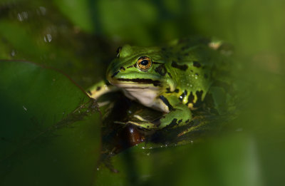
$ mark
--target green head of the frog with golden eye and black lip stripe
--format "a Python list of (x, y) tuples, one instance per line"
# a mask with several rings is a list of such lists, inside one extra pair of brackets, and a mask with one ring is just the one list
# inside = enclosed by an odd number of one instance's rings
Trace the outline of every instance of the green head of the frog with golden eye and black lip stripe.
[(158, 47), (120, 47), (107, 70), (108, 81), (120, 88), (172, 89), (176, 84), (170, 76)]

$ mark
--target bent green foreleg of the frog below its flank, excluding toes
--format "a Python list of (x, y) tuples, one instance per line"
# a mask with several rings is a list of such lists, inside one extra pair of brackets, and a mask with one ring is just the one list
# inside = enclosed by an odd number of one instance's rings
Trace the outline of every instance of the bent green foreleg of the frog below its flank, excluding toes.
[(158, 128), (174, 128), (187, 124), (192, 119), (192, 113), (187, 105), (182, 104), (174, 95), (160, 95), (160, 104), (165, 105), (169, 113), (160, 118)]

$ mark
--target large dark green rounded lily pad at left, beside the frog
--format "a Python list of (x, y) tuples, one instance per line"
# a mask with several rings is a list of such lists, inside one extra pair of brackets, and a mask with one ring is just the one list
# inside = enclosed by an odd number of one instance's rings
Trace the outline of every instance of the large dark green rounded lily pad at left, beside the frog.
[(90, 185), (97, 104), (51, 68), (0, 61), (0, 185)]

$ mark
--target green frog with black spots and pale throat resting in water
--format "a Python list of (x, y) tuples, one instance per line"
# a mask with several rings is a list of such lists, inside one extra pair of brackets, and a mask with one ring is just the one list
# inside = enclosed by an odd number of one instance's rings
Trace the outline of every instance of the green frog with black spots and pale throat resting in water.
[(87, 93), (97, 99), (120, 90), (130, 100), (162, 112), (157, 120), (138, 115), (139, 121), (127, 122), (138, 128), (163, 130), (187, 125), (193, 118), (192, 110), (199, 108), (210, 92), (219, 75), (217, 69), (223, 66), (222, 44), (200, 37), (176, 39), (163, 46), (127, 44), (118, 48), (108, 66), (107, 83), (101, 81)]

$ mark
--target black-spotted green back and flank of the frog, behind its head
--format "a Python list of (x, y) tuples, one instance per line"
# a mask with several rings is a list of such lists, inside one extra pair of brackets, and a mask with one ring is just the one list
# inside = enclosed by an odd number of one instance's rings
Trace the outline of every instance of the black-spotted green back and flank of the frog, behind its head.
[(175, 93), (189, 108), (197, 108), (202, 103), (213, 83), (214, 68), (222, 61), (221, 53), (211, 44), (205, 38), (186, 38), (164, 49), (167, 70), (177, 82)]

